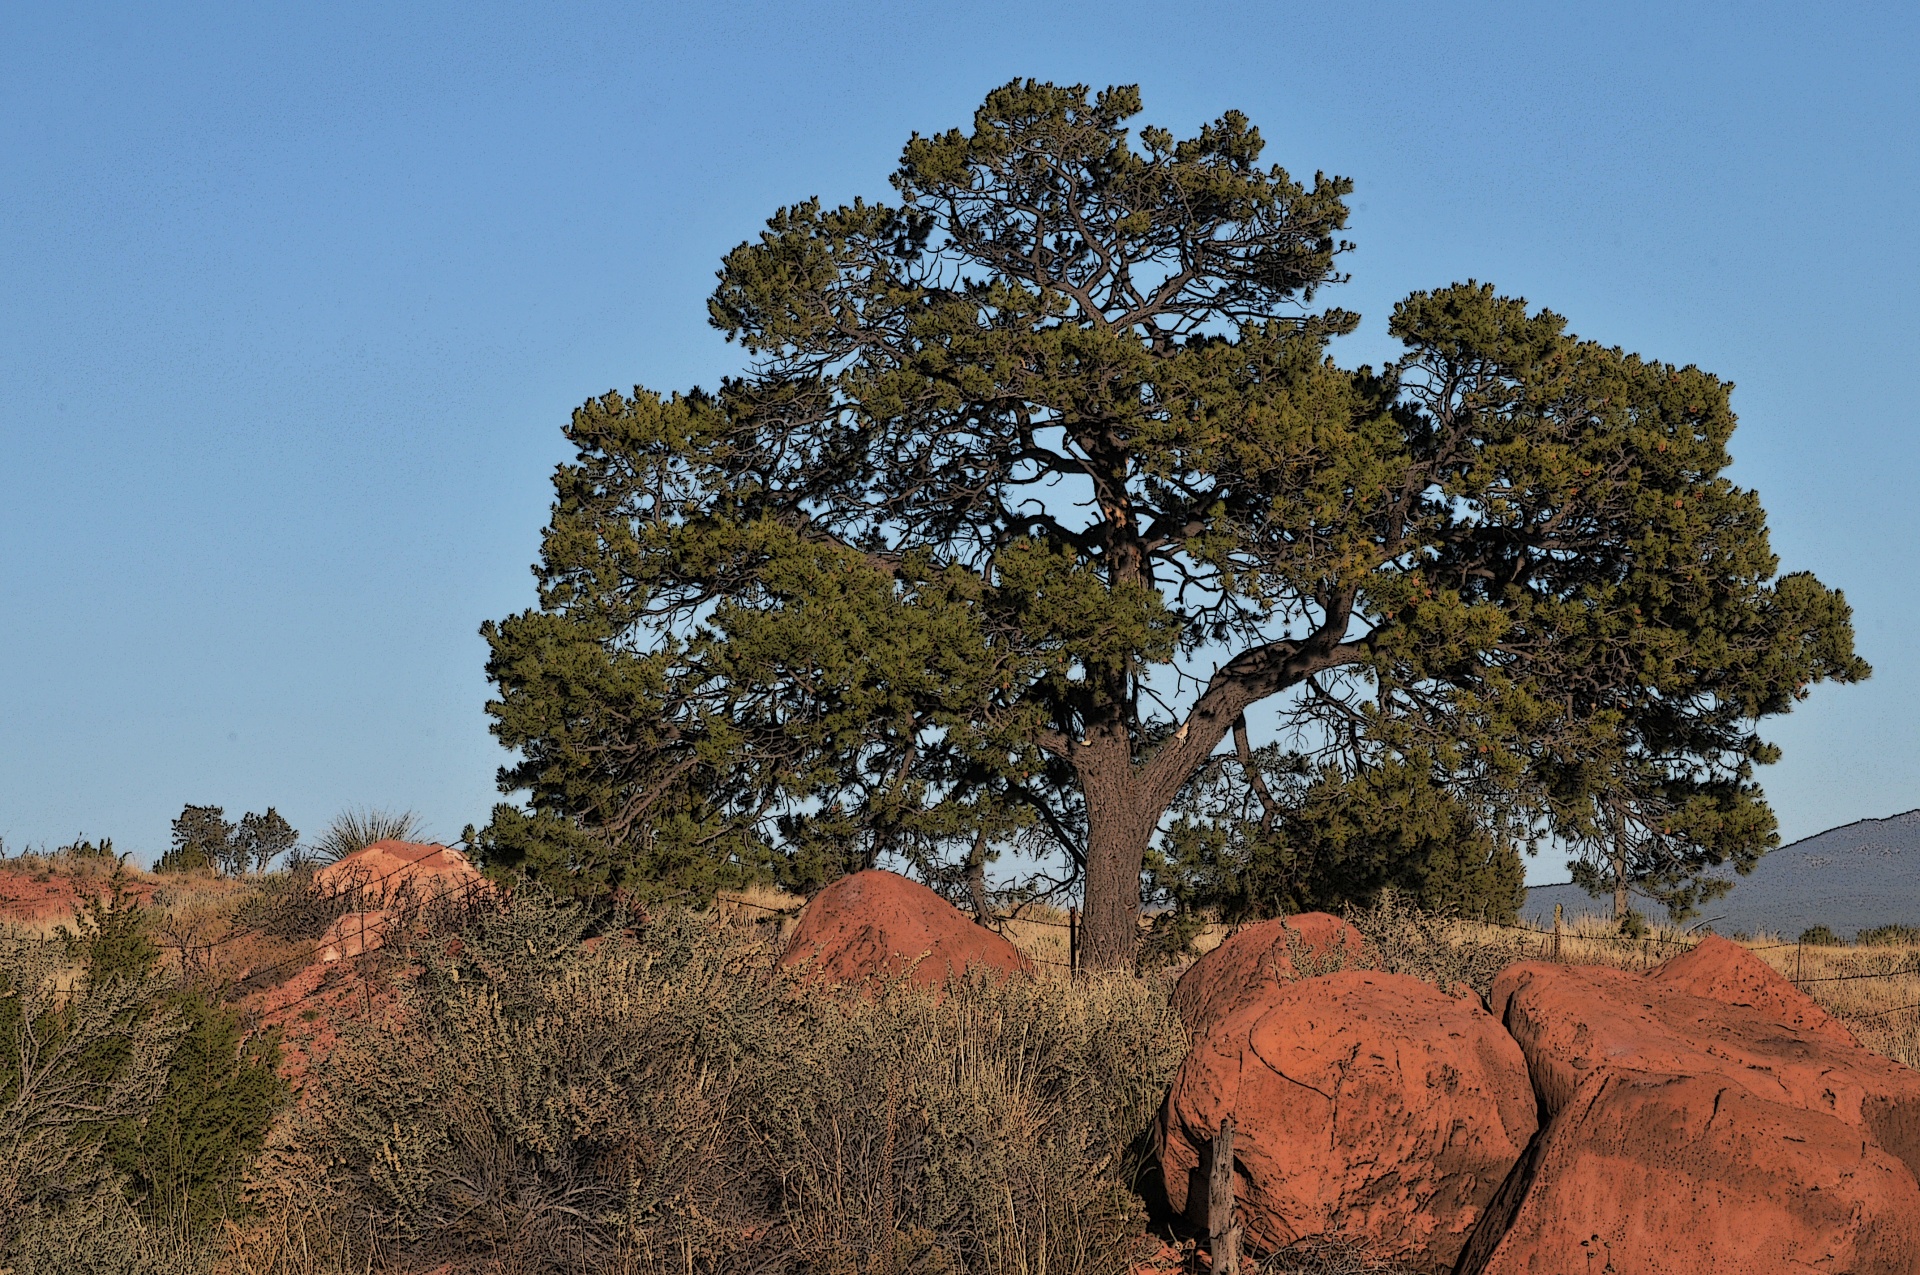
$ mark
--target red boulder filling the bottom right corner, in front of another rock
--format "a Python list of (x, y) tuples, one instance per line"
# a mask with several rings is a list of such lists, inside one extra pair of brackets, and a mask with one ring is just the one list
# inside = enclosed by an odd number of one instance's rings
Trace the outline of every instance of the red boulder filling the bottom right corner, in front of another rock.
[(1920, 1187), (1899, 1160), (1711, 1075), (1594, 1075), (1490, 1214), (1467, 1275), (1920, 1271)]

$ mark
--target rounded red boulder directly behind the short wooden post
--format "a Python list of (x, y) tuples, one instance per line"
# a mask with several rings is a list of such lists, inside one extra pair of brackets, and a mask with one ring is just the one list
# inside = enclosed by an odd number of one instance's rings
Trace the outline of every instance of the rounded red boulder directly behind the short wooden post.
[(1526, 1062), (1476, 1000), (1371, 970), (1269, 985), (1194, 1043), (1162, 1110), (1175, 1210), (1229, 1114), (1254, 1248), (1338, 1235), (1434, 1271), (1536, 1127)]

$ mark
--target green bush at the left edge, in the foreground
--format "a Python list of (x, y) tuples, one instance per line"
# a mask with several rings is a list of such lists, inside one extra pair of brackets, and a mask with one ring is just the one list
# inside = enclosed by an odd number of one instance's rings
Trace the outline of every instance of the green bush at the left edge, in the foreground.
[(156, 1269), (167, 1244), (142, 1227), (205, 1235), (232, 1215), (284, 1102), (276, 1037), (163, 977), (150, 929), (119, 864), (54, 945), (79, 968), (77, 995), (58, 995), (48, 945), (0, 945), (0, 1156), (13, 1166), (0, 1215), (21, 1219), (21, 1269), (60, 1269), (35, 1263), (63, 1252), (83, 1212), (115, 1215), (102, 1200), (117, 1192), (140, 1217), (125, 1244), (98, 1246), (100, 1269)]

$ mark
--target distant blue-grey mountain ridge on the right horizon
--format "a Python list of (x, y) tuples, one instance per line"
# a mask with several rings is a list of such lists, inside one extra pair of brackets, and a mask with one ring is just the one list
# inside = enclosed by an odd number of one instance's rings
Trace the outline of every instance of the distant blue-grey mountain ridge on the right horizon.
[[(1920, 926), (1920, 810), (1884, 820), (1859, 820), (1764, 854), (1751, 876), (1718, 876), (1734, 889), (1707, 904), (1695, 922), (1718, 933), (1778, 933), (1797, 937), (1828, 926), (1843, 939), (1874, 926)], [(1578, 885), (1534, 885), (1521, 916), (1553, 924), (1553, 904), (1567, 916), (1607, 916), (1613, 899), (1594, 899)], [(1647, 920), (1667, 910), (1636, 901)]]

